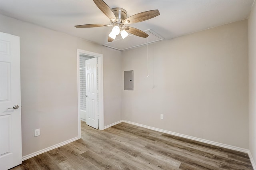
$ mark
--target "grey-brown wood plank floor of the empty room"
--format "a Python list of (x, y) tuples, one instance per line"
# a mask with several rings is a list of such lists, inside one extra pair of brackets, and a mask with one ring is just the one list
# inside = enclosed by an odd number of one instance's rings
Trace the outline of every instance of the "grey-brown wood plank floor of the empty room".
[(12, 170), (252, 170), (248, 154), (120, 123), (22, 162)]

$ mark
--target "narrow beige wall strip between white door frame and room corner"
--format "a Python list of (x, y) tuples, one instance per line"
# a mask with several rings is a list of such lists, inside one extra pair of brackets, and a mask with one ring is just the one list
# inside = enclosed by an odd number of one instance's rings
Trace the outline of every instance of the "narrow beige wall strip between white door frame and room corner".
[(120, 83), (122, 81), (122, 57), (121, 51), (109, 47), (102, 46), (102, 53), (104, 53), (104, 126), (107, 126), (122, 120), (122, 85)]

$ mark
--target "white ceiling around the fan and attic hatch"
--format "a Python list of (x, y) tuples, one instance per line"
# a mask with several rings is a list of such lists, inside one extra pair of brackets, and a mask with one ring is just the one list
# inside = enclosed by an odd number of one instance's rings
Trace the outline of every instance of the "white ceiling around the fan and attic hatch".
[[(254, 0), (104, 0), (127, 11), (127, 17), (158, 9), (160, 15), (130, 24), (171, 39), (248, 18)], [(75, 28), (81, 24), (110, 24), (92, 0), (0, 0), (3, 15), (64, 32), (98, 44), (107, 43), (112, 27)]]

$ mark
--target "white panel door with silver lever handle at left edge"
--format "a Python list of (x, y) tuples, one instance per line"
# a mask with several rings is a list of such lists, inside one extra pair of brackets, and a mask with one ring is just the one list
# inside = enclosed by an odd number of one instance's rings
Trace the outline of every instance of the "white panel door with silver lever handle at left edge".
[(0, 33), (0, 169), (22, 163), (20, 38)]

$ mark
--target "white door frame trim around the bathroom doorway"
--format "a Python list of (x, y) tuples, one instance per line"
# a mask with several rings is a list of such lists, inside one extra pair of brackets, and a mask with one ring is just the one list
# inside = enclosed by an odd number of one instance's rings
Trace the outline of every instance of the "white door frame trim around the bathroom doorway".
[(79, 64), (80, 55), (89, 55), (92, 57), (98, 57), (98, 121), (99, 130), (104, 128), (104, 103), (103, 103), (103, 55), (99, 53), (94, 53), (90, 51), (85, 51), (82, 49), (77, 49), (77, 94), (78, 94), (78, 137), (81, 138), (81, 117), (80, 117), (80, 74), (79, 74)]

